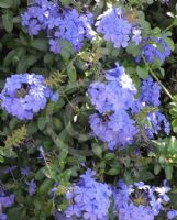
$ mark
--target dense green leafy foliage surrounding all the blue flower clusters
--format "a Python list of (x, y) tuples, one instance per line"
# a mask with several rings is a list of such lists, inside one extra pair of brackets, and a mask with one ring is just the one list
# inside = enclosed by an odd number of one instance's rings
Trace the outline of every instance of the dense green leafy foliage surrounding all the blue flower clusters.
[[(56, 54), (49, 50), (48, 33), (42, 31), (37, 35), (30, 35), (27, 29), (22, 25), (21, 14), (33, 4), (34, 1), (30, 0), (29, 2), (0, 0), (0, 88), (2, 90), (5, 79), (14, 74), (34, 73), (43, 75), (45, 85), (58, 92), (59, 98), (56, 102), (48, 101), (45, 109), (36, 113), (33, 120), (19, 120), (4, 108), (0, 109), (0, 185), (2, 188), (0, 193), (2, 190), (7, 195), (14, 194), (13, 206), (11, 208), (2, 206), (2, 210), (0, 204), (0, 213), (5, 212), (10, 220), (54, 219), (56, 211), (57, 215), (63, 215), (69, 206), (65, 197), (68, 189), (78, 182), (86, 169), (90, 168), (96, 170), (98, 182), (107, 183), (112, 187), (119, 179), (124, 179), (126, 184), (145, 182), (153, 186), (161, 186), (163, 180), (167, 179), (172, 188), (168, 194), (172, 202), (156, 217), (166, 219), (166, 210), (177, 208), (177, 7), (175, 0), (166, 3), (161, 0), (60, 0), (58, 8), (62, 11), (77, 9), (79, 14), (87, 14), (87, 12), (93, 14), (91, 24), (93, 37), (91, 40), (85, 37), (82, 48), (77, 52), (73, 50), (70, 42), (62, 40), (62, 50)], [(131, 42), (131, 36), (125, 46), (114, 47), (115, 44), (106, 41), (103, 33), (97, 30), (95, 23), (100, 14), (112, 7), (122, 7), (123, 19), (132, 25), (135, 23), (135, 28), (141, 30), (142, 38), (150, 37), (146, 38), (147, 43), (155, 44), (155, 48), (157, 47), (164, 57), (163, 45), (153, 42), (154, 38), (163, 38), (170, 50), (170, 56), (166, 56), (162, 62), (157, 55), (153, 62), (148, 62), (145, 54), (142, 55), (142, 43)], [(146, 41), (143, 42), (144, 44)], [(139, 55), (141, 61), (136, 62)], [(104, 79), (106, 70), (115, 68), (115, 63), (124, 67), (129, 79), (132, 79), (135, 85), (136, 98), (141, 96), (142, 81), (148, 76), (161, 86), (162, 96), (161, 105), (148, 103), (146, 108), (134, 114), (130, 113), (130, 108), (126, 109), (141, 132), (132, 143), (120, 147), (121, 144), (118, 142), (115, 150), (112, 151), (107, 141), (101, 141), (99, 135), (92, 135), (89, 117), (98, 112), (99, 108), (96, 109), (97, 105), (90, 101), (91, 95), (88, 88), (93, 81), (101, 81), (107, 88), (109, 80)], [(111, 82), (110, 87), (112, 87)], [(155, 90), (154, 87), (152, 88)], [(120, 87), (115, 90), (115, 95), (119, 89)], [(152, 96), (157, 95), (152, 92)], [(2, 97), (0, 99), (2, 103)], [(123, 99), (125, 97), (122, 96)], [(157, 109), (169, 121), (172, 130), (167, 135), (161, 124), (162, 130), (159, 129), (161, 131), (150, 139), (144, 130), (145, 127), (153, 125), (146, 117)], [(101, 120), (107, 121), (107, 117), (111, 113), (104, 112)], [(104, 135), (107, 138), (108, 134)], [(29, 173), (24, 175), (22, 168), (26, 167), (30, 167), (30, 170), (26, 169)], [(30, 184), (34, 189), (36, 188), (36, 191), (31, 195)], [(51, 193), (54, 188), (55, 195)], [(114, 218), (111, 206), (108, 218), (118, 219)], [(58, 216), (58, 219), (66, 218)]]

